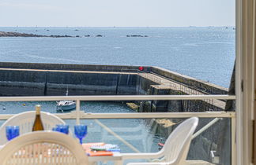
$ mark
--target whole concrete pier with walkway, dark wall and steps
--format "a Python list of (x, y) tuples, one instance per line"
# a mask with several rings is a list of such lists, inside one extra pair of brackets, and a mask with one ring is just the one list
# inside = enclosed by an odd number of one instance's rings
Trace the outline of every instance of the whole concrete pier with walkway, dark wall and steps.
[[(1, 96), (227, 94), (228, 89), (163, 68), (86, 64), (0, 63)], [(136, 103), (136, 102), (135, 102)], [(225, 101), (140, 101), (138, 112), (203, 112)]]

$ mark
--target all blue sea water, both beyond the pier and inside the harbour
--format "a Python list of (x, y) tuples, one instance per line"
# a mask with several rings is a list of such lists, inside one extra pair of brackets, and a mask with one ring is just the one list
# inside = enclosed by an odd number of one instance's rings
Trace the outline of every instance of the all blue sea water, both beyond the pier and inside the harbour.
[[(235, 62), (235, 27), (0, 27), (0, 31), (77, 36), (1, 37), (2, 62), (157, 66), (226, 88)], [(33, 110), (37, 104), (43, 111), (56, 112), (54, 101), (21, 101), (0, 102), (0, 114)], [(134, 113), (120, 102), (85, 101), (81, 110)], [(120, 145), (122, 152), (136, 152), (99, 122), (140, 152), (158, 151), (157, 143), (164, 138), (164, 128), (152, 128), (147, 119), (88, 119), (81, 120), (88, 125), (84, 142), (105, 141)], [(73, 126), (75, 120), (66, 123)]]

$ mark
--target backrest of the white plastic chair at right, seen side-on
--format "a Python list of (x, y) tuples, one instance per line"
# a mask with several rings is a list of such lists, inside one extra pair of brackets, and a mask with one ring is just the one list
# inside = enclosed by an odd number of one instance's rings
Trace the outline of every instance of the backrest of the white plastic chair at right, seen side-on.
[(198, 117), (186, 119), (175, 128), (165, 141), (160, 152), (164, 152), (166, 162), (174, 164), (185, 164), (187, 152), (190, 148), (190, 141), (194, 130), (198, 126)]

